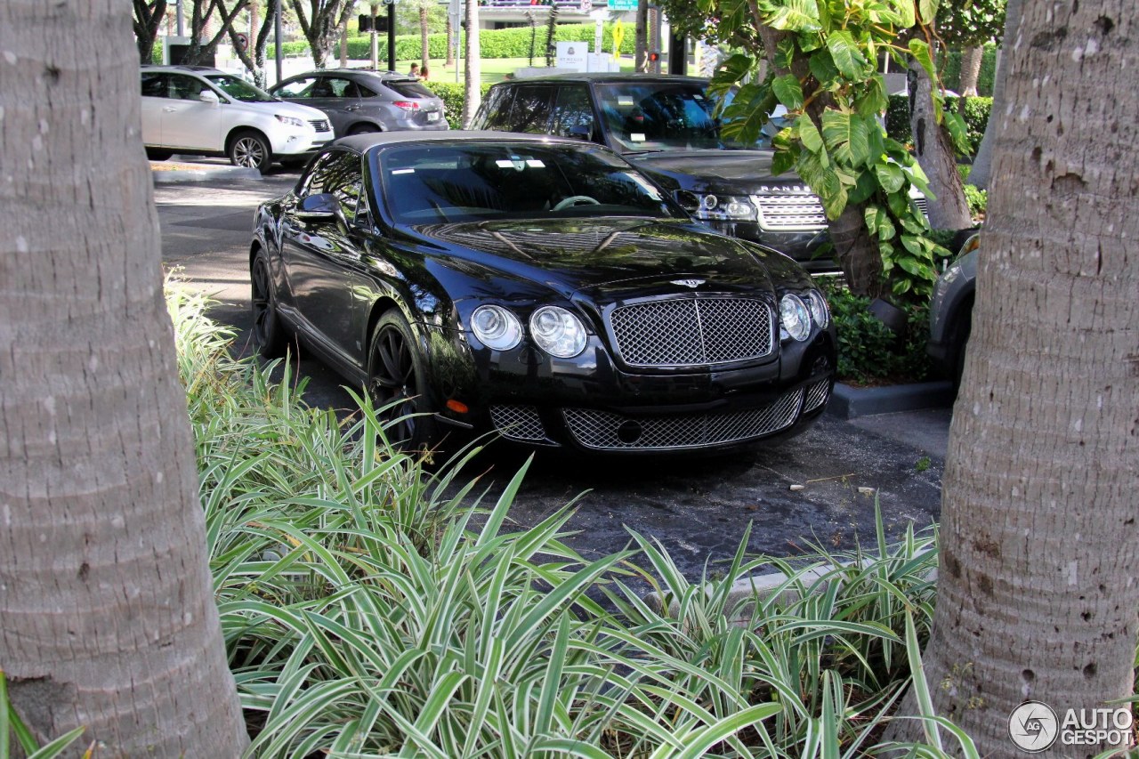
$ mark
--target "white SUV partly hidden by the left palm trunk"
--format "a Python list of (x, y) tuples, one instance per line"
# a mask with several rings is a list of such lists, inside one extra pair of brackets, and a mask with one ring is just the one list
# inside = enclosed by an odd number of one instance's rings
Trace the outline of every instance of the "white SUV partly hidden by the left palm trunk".
[(239, 76), (204, 66), (142, 67), (142, 142), (153, 161), (224, 155), (264, 171), (303, 163), (333, 139), (328, 117), (282, 103)]

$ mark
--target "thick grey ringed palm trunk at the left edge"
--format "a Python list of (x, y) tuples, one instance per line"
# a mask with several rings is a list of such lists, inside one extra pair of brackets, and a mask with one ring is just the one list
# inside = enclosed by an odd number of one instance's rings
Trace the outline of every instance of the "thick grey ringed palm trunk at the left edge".
[(229, 758), (128, 13), (0, 3), (0, 662), (41, 738)]

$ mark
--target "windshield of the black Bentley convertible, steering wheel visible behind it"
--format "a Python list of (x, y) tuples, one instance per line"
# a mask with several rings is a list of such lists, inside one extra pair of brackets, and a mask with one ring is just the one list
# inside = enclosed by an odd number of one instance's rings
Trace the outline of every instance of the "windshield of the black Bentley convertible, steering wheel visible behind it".
[(604, 148), (540, 142), (394, 147), (380, 154), (383, 196), (401, 223), (492, 219), (687, 219), (650, 180)]

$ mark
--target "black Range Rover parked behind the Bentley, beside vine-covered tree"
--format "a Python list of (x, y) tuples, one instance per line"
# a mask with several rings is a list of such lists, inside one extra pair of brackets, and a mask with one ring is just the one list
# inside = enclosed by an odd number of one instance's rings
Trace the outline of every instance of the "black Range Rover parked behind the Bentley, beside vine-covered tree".
[(600, 142), (670, 190), (691, 214), (735, 237), (790, 255), (811, 272), (836, 271), (816, 252), (827, 240), (819, 198), (794, 173), (771, 176), (770, 138), (726, 141), (707, 80), (653, 74), (559, 74), (491, 88), (472, 129)]

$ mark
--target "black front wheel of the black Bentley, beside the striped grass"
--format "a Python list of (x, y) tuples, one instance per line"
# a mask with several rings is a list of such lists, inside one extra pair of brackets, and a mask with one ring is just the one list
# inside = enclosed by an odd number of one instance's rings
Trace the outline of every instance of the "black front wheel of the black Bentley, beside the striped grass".
[(368, 349), (368, 394), (387, 439), (404, 450), (431, 448), (435, 424), (431, 416), (424, 359), (407, 319), (398, 310), (379, 318)]

